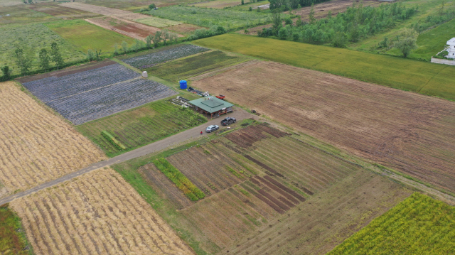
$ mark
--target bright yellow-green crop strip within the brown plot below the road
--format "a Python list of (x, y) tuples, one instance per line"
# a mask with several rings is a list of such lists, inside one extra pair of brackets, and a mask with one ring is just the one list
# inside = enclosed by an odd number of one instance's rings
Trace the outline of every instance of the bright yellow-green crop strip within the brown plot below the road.
[(188, 180), (188, 178), (186, 178), (180, 170), (172, 166), (171, 163), (169, 163), (165, 158), (158, 158), (154, 160), (154, 165), (156, 168), (161, 170), (161, 172), (164, 173), (169, 180), (175, 183), (177, 188), (183, 191), (183, 193), (191, 201), (197, 201), (205, 197), (205, 194), (200, 191), (196, 185), (191, 183), (191, 180)]

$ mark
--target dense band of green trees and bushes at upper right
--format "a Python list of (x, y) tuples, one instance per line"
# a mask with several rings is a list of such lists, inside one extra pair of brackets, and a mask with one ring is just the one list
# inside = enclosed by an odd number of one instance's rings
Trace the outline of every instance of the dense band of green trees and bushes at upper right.
[(264, 28), (258, 31), (258, 36), (276, 36), (282, 40), (294, 40), (303, 43), (323, 44), (331, 43), (335, 47), (346, 47), (348, 42), (357, 42), (361, 38), (374, 35), (385, 28), (395, 26), (397, 21), (410, 18), (418, 11), (418, 7), (405, 7), (401, 2), (394, 4), (383, 4), (378, 7), (353, 4), (346, 12), (327, 18), (316, 20), (314, 18), (314, 6), (309, 13), (309, 22), (301, 21), (301, 18), (294, 22), (291, 18), (284, 20), (282, 26), (281, 14), (274, 11), (272, 28)]

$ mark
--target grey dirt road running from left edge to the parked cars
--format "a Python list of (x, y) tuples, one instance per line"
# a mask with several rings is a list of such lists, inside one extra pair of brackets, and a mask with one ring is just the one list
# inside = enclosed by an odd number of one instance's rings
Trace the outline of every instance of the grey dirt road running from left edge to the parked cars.
[[(252, 115), (248, 112), (245, 112), (244, 110), (242, 109), (239, 109), (239, 108), (235, 108), (234, 112), (228, 114), (227, 116), (231, 116), (231, 117), (234, 117), (235, 119), (237, 119), (237, 121), (241, 121), (242, 119), (249, 119), (249, 118), (252, 118), (252, 117), (257, 117), (255, 115)], [(77, 170), (73, 173), (70, 173), (68, 175), (64, 175), (60, 178), (57, 178), (55, 180), (50, 180), (48, 181), (47, 183), (43, 183), (41, 185), (38, 185), (34, 188), (31, 188), (29, 190), (24, 190), (23, 192), (18, 192), (14, 195), (9, 195), (8, 197), (4, 197), (0, 200), (0, 205), (4, 205), (8, 202), (11, 202), (13, 200), (15, 200), (16, 198), (19, 198), (19, 197), (25, 197), (26, 195), (30, 195), (32, 194), (33, 192), (37, 192), (38, 190), (43, 190), (45, 188), (49, 188), (49, 187), (52, 187), (53, 185), (58, 185), (59, 183), (63, 183), (64, 181), (66, 180), (71, 180), (77, 176), (80, 176), (80, 175), (83, 175), (84, 173), (88, 173), (92, 170), (95, 170), (95, 169), (98, 169), (98, 168), (102, 168), (102, 167), (105, 167), (105, 166), (110, 166), (112, 164), (115, 164), (115, 163), (120, 163), (120, 162), (123, 162), (123, 161), (129, 161), (130, 159), (133, 159), (133, 158), (137, 158), (137, 157), (140, 157), (140, 156), (145, 156), (149, 153), (154, 153), (156, 151), (161, 151), (165, 148), (168, 148), (169, 146), (173, 146), (174, 144), (177, 144), (177, 143), (182, 143), (183, 141), (187, 141), (189, 139), (194, 139), (196, 137), (200, 137), (200, 131), (203, 131), (203, 135), (202, 136), (205, 136), (207, 133), (205, 133), (205, 127), (207, 126), (210, 126), (210, 125), (219, 125), (220, 124), (220, 121), (221, 119), (223, 119), (224, 117), (221, 116), (219, 118), (216, 118), (216, 119), (211, 119), (209, 120), (207, 123), (205, 124), (202, 124), (200, 126), (196, 126), (194, 127), (193, 129), (188, 129), (186, 131), (183, 131), (181, 133), (178, 133), (178, 134), (175, 134), (173, 136), (169, 136), (167, 137), (166, 139), (162, 139), (160, 141), (156, 141), (154, 143), (150, 143), (149, 145), (146, 145), (146, 146), (143, 146), (141, 148), (137, 148), (136, 150), (134, 151), (129, 151), (127, 153), (124, 153), (122, 155), (119, 155), (119, 156), (116, 156), (114, 158), (109, 158), (107, 159), (106, 161), (100, 161), (98, 163), (93, 163), (92, 165), (90, 166), (87, 166), (87, 168), (83, 168), (81, 170)]]

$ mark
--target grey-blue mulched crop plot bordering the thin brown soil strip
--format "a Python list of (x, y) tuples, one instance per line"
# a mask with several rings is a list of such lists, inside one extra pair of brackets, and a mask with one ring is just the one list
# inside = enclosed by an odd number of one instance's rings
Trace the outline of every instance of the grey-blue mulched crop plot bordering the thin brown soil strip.
[(51, 76), (25, 82), (23, 86), (41, 101), (48, 102), (137, 77), (139, 77), (137, 72), (123, 65), (114, 64), (62, 77)]

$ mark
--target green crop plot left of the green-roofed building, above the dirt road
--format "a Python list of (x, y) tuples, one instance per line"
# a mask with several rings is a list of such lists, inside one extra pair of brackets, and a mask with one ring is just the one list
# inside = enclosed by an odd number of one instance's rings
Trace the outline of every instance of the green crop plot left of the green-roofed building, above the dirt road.
[[(99, 145), (107, 156), (113, 157), (206, 121), (196, 112), (161, 100), (75, 126), (75, 129)], [(109, 141), (102, 135), (103, 131), (112, 134), (126, 149)]]

